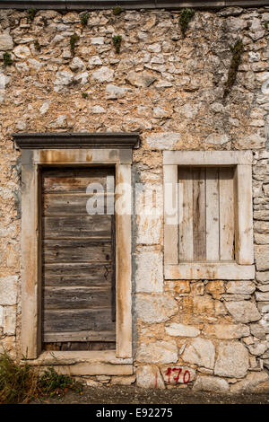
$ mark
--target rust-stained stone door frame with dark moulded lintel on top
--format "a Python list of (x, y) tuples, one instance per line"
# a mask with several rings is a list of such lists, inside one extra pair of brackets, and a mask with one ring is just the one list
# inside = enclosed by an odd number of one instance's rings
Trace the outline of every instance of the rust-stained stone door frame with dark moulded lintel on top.
[[(137, 134), (14, 134), (22, 148), (22, 331), (21, 356), (31, 365), (49, 365), (51, 352), (41, 351), (42, 166), (115, 166), (115, 185), (131, 185), (132, 148)], [(80, 140), (80, 141), (79, 141)], [(71, 146), (70, 146), (71, 145)], [(91, 147), (92, 146), (92, 147)], [(105, 146), (105, 148), (104, 148)], [(124, 197), (125, 192), (122, 197)], [(123, 198), (124, 199), (124, 198)], [(127, 200), (127, 197), (126, 197)], [(132, 221), (116, 215), (116, 350), (54, 351), (54, 365), (76, 361), (73, 374), (133, 374), (132, 358)], [(111, 365), (113, 364), (113, 365)], [(80, 368), (78, 367), (80, 366)], [(81, 367), (82, 366), (82, 367)], [(70, 371), (69, 371), (70, 372)]]

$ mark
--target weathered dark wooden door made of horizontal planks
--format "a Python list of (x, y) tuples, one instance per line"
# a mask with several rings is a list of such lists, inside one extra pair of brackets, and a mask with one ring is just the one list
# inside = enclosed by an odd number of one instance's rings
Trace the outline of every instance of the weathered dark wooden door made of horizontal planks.
[[(111, 178), (111, 168), (42, 171), (45, 350), (115, 348), (115, 218), (111, 206), (108, 209), (114, 195)], [(104, 189), (104, 208), (96, 215), (86, 208), (92, 198), (86, 191), (91, 183)]]

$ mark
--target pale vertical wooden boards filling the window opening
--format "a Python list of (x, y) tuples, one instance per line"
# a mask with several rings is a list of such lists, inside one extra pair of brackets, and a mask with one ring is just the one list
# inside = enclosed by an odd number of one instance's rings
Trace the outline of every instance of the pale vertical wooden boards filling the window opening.
[(233, 261), (234, 169), (178, 167), (179, 262)]

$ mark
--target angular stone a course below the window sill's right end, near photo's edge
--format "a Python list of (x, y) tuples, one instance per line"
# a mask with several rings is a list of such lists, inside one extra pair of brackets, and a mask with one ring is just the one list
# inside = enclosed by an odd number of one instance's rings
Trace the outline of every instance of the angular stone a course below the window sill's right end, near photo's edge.
[(236, 321), (247, 323), (258, 321), (261, 318), (261, 315), (256, 308), (256, 304), (253, 302), (226, 302), (225, 306)]

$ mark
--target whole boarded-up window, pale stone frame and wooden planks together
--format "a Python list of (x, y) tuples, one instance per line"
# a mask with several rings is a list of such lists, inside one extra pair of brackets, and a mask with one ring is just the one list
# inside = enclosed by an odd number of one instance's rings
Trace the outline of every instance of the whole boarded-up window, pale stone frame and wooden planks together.
[(163, 162), (165, 277), (253, 278), (252, 154), (169, 151)]

